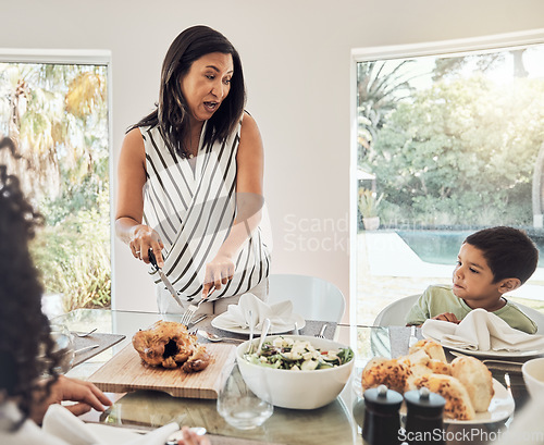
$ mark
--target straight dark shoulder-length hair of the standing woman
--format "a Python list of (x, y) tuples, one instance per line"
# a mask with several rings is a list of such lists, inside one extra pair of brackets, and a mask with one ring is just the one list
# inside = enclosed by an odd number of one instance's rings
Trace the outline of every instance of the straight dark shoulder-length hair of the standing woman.
[(208, 145), (225, 139), (242, 118), (246, 103), (242, 61), (225, 36), (203, 25), (187, 28), (174, 39), (162, 63), (159, 103), (153, 112), (128, 131), (140, 126), (158, 126), (166, 147), (182, 158), (187, 158), (188, 149), (183, 145), (183, 135), (189, 128), (190, 110), (182, 94), (181, 81), (193, 62), (211, 52), (231, 54), (234, 73), (228, 95), (208, 121), (203, 143)]

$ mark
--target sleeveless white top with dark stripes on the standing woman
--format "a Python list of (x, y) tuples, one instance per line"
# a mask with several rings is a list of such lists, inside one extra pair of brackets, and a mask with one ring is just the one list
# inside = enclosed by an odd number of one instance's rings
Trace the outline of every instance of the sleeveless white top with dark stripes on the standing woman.
[[(226, 140), (202, 146), (183, 159), (171, 152), (157, 127), (140, 128), (146, 148), (144, 224), (164, 244), (164, 273), (182, 299), (200, 299), (206, 264), (227, 237), (236, 215), (236, 153), (239, 125)], [(254, 231), (235, 261), (232, 281), (210, 300), (248, 292), (269, 274), (270, 255), (260, 227)], [(154, 270), (153, 280), (163, 286)], [(164, 286), (163, 286), (164, 287)]]

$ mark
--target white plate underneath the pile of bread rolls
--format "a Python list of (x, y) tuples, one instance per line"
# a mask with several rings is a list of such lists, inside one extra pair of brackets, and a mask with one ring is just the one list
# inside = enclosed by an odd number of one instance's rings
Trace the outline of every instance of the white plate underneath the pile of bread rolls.
[[(354, 375), (354, 391), (362, 398), (361, 373), (359, 370)], [(456, 420), (444, 417), (444, 423), (452, 424), (481, 424), (481, 423), (495, 423), (508, 419), (512, 412), (516, 404), (508, 390), (504, 387), (497, 380), (493, 379), (493, 390), (495, 395), (491, 399), (490, 408), (485, 412), (477, 412), (472, 420)], [(399, 413), (406, 416), (406, 404), (403, 401)]]

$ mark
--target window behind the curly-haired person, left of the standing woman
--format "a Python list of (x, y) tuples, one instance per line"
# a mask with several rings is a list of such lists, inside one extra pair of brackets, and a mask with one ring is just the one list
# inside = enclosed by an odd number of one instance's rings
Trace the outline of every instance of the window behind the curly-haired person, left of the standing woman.
[(0, 163), (46, 219), (33, 254), (64, 310), (111, 301), (108, 63), (0, 50), (0, 134), (18, 153), (1, 150)]

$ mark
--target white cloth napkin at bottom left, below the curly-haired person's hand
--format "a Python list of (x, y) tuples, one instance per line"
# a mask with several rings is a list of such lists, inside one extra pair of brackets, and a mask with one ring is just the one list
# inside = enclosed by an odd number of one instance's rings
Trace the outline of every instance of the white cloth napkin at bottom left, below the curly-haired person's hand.
[(51, 405), (44, 418), (42, 430), (71, 445), (164, 445), (170, 434), (180, 430), (169, 423), (147, 434), (111, 425), (85, 423), (61, 405)]

